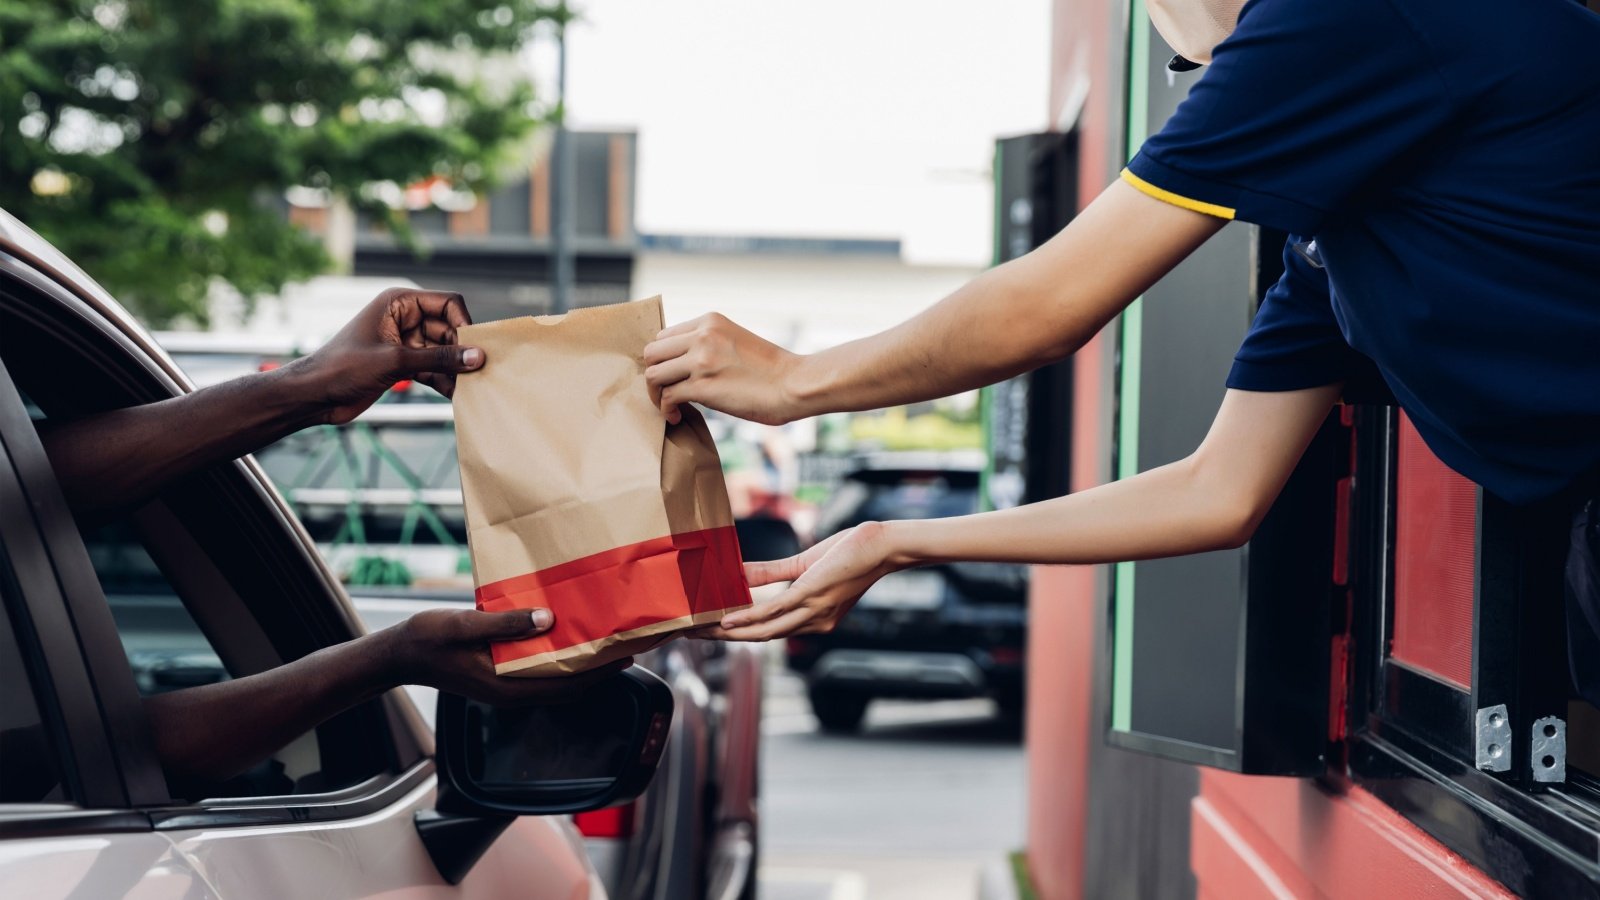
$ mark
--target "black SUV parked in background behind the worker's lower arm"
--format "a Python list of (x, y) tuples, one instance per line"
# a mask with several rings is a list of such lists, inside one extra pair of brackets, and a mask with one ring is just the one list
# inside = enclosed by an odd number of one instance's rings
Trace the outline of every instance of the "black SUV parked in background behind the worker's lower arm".
[[(978, 512), (982, 460), (880, 453), (845, 474), (824, 504), (818, 540), (885, 519)], [(896, 572), (874, 585), (829, 634), (790, 637), (827, 732), (854, 732), (878, 697), (992, 697), (1019, 714), (1027, 645), (1027, 569), (947, 564)]]

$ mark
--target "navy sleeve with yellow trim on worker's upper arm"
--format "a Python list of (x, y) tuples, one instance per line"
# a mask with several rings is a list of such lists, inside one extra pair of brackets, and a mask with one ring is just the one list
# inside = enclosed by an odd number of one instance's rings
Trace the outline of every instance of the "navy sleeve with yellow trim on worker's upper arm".
[(1400, 178), (1454, 114), (1392, 0), (1250, 0), (1123, 181), (1221, 218), (1315, 234)]

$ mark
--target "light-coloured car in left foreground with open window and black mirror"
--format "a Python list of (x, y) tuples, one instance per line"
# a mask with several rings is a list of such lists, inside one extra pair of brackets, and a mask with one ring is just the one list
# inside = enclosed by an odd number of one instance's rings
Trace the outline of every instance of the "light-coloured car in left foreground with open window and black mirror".
[(566, 814), (632, 799), (656, 769), (672, 693), (637, 666), (582, 705), (442, 698), (437, 732), (387, 692), (243, 777), (168, 783), (144, 695), (362, 629), (253, 460), (80, 530), (34, 420), (187, 389), (115, 301), (0, 211), (3, 894), (605, 897)]

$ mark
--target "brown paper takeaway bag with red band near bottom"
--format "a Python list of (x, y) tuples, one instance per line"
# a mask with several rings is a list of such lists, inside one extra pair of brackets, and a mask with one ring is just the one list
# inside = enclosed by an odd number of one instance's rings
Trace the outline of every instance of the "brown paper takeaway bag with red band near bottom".
[(491, 644), (499, 674), (579, 673), (750, 604), (710, 431), (645, 386), (661, 327), (658, 296), (458, 335), (488, 357), (454, 396), (477, 605), (555, 613)]

